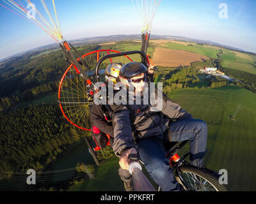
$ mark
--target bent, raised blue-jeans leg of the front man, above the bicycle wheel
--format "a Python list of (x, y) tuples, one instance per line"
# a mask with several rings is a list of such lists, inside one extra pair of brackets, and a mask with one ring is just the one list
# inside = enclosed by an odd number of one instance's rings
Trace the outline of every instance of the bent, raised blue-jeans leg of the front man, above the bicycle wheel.
[(203, 120), (184, 119), (170, 124), (170, 140), (182, 142), (190, 140), (190, 161), (195, 166), (204, 165), (207, 145), (207, 124)]

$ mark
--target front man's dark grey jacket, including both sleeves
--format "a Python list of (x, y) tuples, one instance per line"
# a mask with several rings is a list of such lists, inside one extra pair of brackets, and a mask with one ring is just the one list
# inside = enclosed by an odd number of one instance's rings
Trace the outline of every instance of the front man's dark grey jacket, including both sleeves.
[[(157, 93), (157, 89), (155, 90)], [(157, 97), (157, 94), (156, 94)], [(113, 109), (114, 142), (113, 150), (120, 157), (122, 151), (134, 147), (134, 140), (158, 136), (166, 131), (170, 119), (192, 119), (193, 117), (183, 110), (179, 104), (167, 98), (164, 94), (163, 106), (158, 110), (156, 105), (111, 105)], [(130, 95), (130, 99), (134, 96)], [(131, 118), (132, 117), (132, 118)], [(132, 133), (133, 132), (133, 133)]]

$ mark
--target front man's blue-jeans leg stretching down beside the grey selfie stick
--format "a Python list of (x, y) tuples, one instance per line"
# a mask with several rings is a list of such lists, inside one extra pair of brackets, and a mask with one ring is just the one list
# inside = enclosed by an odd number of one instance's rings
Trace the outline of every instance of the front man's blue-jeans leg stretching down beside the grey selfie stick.
[(161, 187), (161, 190), (179, 191), (179, 184), (173, 176), (165, 153), (162, 140), (145, 138), (138, 143), (138, 154), (150, 177)]

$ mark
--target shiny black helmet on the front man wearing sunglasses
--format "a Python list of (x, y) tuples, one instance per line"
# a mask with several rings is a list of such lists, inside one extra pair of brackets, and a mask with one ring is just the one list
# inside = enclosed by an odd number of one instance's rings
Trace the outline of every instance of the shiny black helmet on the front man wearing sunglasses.
[(129, 62), (121, 68), (119, 76), (122, 78), (132, 78), (146, 72), (147, 68), (145, 65), (139, 62)]

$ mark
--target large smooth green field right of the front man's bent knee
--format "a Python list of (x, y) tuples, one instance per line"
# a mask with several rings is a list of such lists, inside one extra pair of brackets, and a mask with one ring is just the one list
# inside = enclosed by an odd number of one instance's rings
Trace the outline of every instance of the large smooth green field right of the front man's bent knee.
[[(206, 166), (228, 171), (230, 191), (256, 190), (256, 95), (239, 87), (180, 89), (169, 97), (207, 122)], [(193, 102), (193, 103), (191, 103)], [(235, 120), (234, 115), (237, 108)]]

